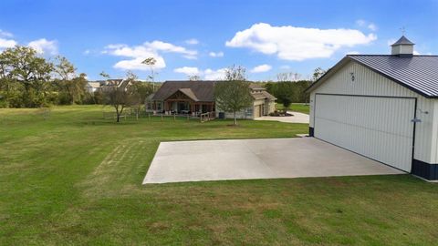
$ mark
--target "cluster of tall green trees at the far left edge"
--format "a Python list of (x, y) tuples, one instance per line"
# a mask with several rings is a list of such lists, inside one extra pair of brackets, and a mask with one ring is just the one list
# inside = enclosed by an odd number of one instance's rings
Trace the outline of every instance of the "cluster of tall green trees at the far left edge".
[(87, 76), (66, 57), (47, 60), (26, 46), (0, 53), (0, 108), (37, 108), (51, 104), (92, 103)]

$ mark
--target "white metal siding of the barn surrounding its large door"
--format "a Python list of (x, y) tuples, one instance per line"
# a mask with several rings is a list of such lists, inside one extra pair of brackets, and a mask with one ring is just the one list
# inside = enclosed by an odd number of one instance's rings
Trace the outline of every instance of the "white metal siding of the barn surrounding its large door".
[[(354, 76), (354, 81), (351, 80), (351, 73)], [(416, 123), (415, 126), (414, 159), (425, 163), (438, 162), (437, 100), (422, 97), (412, 90), (402, 87), (386, 77), (382, 77), (369, 68), (350, 61), (344, 67), (341, 67), (337, 73), (328, 77), (327, 81), (323, 82), (311, 92), (310, 128), (315, 127), (315, 99), (317, 93), (417, 98), (416, 116), (421, 119), (422, 122)], [(318, 107), (318, 101), (316, 104)], [(425, 111), (427, 111), (428, 114), (425, 114)], [(433, 120), (434, 118), (437, 120)], [(375, 120), (376, 123), (379, 123), (379, 118), (376, 118)], [(316, 127), (318, 128), (318, 126)]]

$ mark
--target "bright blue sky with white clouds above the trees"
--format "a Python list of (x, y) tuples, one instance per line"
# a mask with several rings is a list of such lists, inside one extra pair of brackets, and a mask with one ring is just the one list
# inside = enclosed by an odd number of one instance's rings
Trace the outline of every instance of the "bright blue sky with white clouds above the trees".
[(438, 1), (10, 1), (0, 2), (0, 49), (33, 46), (66, 56), (78, 72), (141, 78), (157, 59), (158, 80), (217, 78), (233, 64), (249, 79), (307, 77), (346, 54), (389, 54), (406, 36), (438, 54)]

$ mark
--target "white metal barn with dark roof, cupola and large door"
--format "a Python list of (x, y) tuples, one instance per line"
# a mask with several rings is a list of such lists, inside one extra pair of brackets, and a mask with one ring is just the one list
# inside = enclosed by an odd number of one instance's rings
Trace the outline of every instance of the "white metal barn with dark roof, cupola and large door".
[(308, 87), (309, 135), (423, 179), (438, 179), (438, 56), (349, 55)]

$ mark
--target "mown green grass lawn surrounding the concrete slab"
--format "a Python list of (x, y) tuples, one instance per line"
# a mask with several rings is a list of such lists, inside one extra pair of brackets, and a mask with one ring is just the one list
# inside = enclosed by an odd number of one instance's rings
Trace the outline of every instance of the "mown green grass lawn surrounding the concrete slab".
[(286, 138), (306, 124), (115, 124), (101, 110), (54, 108), (45, 120), (36, 109), (0, 109), (0, 245), (432, 245), (438, 238), (438, 186), (409, 175), (141, 185), (162, 140)]

